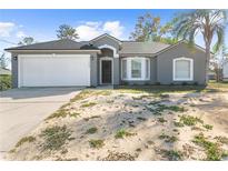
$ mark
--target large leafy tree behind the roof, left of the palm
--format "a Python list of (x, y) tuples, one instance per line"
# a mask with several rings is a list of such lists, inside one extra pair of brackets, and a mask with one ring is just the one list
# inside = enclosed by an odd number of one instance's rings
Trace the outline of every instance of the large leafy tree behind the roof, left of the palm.
[(138, 18), (135, 31), (131, 32), (130, 39), (136, 41), (174, 43), (176, 40), (171, 37), (171, 29), (172, 22), (161, 26), (160, 17), (153, 17), (151, 13), (146, 13)]

